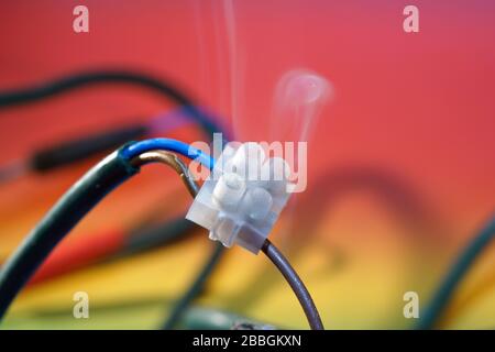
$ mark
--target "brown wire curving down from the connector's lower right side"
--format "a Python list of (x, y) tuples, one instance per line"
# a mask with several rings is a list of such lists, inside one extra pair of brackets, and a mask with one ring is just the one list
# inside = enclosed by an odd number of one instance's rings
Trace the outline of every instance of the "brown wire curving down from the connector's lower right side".
[(280, 271), (290, 288), (297, 296), (302, 310), (305, 311), (306, 318), (308, 319), (309, 326), (312, 330), (324, 330), (323, 323), (321, 322), (320, 314), (312, 301), (311, 295), (306, 288), (305, 284), (297, 275), (296, 271), (290, 266), (284, 254), (278, 251), (278, 249), (266, 239), (262, 248), (263, 253), (272, 261), (273, 264)]

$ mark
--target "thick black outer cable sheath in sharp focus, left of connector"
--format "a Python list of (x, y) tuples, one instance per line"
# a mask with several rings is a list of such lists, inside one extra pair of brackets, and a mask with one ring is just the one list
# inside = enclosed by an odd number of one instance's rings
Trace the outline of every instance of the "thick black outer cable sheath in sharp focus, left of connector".
[(0, 320), (57, 243), (113, 188), (138, 173), (114, 152), (77, 182), (31, 231), (0, 272)]

